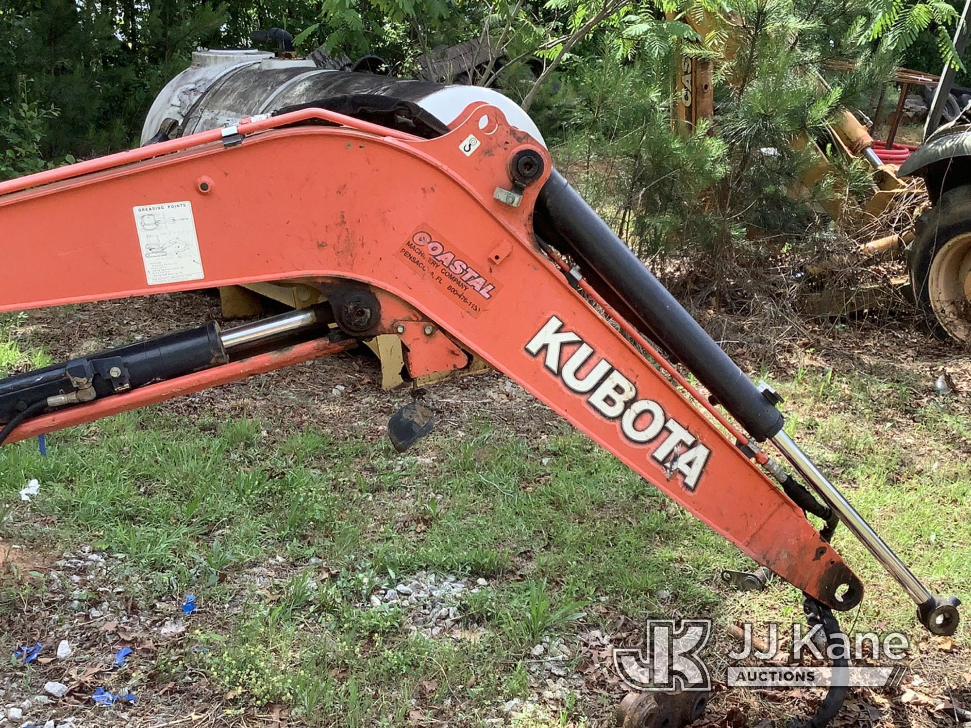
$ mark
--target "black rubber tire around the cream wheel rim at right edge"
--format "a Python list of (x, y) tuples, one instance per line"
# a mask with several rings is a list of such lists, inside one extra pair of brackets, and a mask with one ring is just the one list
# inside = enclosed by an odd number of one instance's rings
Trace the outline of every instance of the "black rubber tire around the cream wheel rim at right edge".
[[(961, 235), (971, 235), (971, 184), (947, 190), (937, 204), (921, 215), (915, 226), (914, 242), (908, 254), (911, 289), (921, 309), (942, 333), (971, 342), (971, 305), (963, 304), (953, 320), (941, 320), (930, 301), (930, 273), (934, 257)], [(966, 333), (962, 329), (967, 328)]]

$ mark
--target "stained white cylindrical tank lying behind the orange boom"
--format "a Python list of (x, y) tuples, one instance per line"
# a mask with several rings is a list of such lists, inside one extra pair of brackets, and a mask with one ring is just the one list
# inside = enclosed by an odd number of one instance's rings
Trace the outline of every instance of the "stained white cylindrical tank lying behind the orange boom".
[(167, 83), (152, 103), (142, 128), (142, 144), (160, 131), (168, 138), (180, 137), (246, 116), (350, 94), (382, 94), (411, 101), (446, 124), (469, 104), (485, 101), (543, 143), (536, 124), (519, 105), (491, 88), (334, 71), (318, 68), (312, 60), (277, 58), (260, 50), (197, 50), (192, 53), (191, 66)]

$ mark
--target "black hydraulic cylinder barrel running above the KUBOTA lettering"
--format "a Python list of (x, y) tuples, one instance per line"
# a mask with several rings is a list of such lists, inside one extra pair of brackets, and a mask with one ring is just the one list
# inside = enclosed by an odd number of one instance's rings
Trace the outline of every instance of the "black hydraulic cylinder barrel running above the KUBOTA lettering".
[(782, 429), (783, 415), (555, 170), (540, 190), (535, 214), (546, 217), (571, 252), (648, 326), (645, 333), (683, 363), (755, 440)]

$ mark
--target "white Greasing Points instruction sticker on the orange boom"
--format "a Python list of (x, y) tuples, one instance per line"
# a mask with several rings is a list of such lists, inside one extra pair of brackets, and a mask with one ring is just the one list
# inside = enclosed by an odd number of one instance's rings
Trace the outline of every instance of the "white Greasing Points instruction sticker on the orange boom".
[(202, 255), (195, 237), (190, 202), (142, 205), (132, 211), (149, 285), (199, 281), (206, 277), (202, 272)]

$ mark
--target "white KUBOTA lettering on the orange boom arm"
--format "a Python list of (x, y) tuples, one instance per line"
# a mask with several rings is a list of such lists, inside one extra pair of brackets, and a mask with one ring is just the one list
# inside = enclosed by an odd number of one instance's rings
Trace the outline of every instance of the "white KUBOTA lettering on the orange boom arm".
[[(563, 322), (556, 316), (526, 345), (538, 356), (546, 350), (545, 365), (570, 391), (588, 394), (587, 404), (608, 419), (619, 421), (620, 432), (629, 442), (650, 447), (651, 456), (668, 476), (681, 473), (685, 487), (694, 490), (705, 470), (711, 451), (696, 442), (687, 428), (650, 399), (638, 399), (637, 387), (604, 358), (578, 377), (594, 354), (593, 348), (572, 331), (561, 331)], [(563, 347), (579, 344), (563, 361)]]

